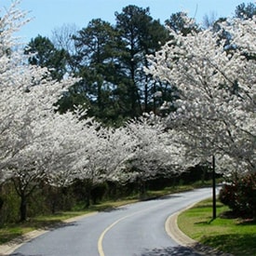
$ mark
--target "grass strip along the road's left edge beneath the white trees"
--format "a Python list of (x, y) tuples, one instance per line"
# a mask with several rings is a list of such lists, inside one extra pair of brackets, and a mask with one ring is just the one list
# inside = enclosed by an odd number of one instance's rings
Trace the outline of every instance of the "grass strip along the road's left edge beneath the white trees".
[[(150, 199), (163, 195), (169, 195), (172, 193), (187, 191), (193, 189), (194, 187), (196, 187), (196, 185), (181, 185), (167, 187), (159, 191), (148, 191), (144, 199)], [(98, 205), (93, 205), (88, 209), (78, 208), (75, 209), (74, 211), (64, 211), (58, 212), (53, 215), (36, 216), (34, 218), (29, 219), (27, 222), (8, 223), (0, 228), (0, 245), (7, 243), (18, 236), (23, 236), (26, 233), (34, 231), (36, 229), (48, 229), (70, 218), (85, 215), (95, 211), (113, 209), (123, 205), (135, 203), (137, 201), (139, 201), (138, 195), (134, 195), (128, 198), (122, 198), (118, 201), (104, 201)]]

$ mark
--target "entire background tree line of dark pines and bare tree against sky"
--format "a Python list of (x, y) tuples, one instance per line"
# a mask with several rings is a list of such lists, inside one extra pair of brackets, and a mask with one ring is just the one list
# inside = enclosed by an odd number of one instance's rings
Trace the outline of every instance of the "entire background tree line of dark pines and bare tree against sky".
[[(235, 17), (253, 14), (253, 4), (236, 7)], [(129, 5), (115, 12), (115, 24), (94, 19), (78, 31), (64, 24), (53, 31), (51, 40), (42, 35), (32, 39), (26, 52), (34, 53), (30, 63), (49, 68), (53, 79), (60, 80), (67, 73), (81, 78), (59, 102), (61, 113), (83, 104), (88, 115), (106, 125), (120, 126), (144, 112), (163, 115), (159, 107), (164, 101), (169, 102), (169, 110), (175, 109), (177, 88), (155, 81), (144, 68), (149, 66), (147, 56), (171, 39), (169, 28), (183, 35), (204, 29), (196, 23), (186, 26), (187, 18), (185, 13), (173, 13), (161, 24), (150, 15), (149, 7)], [(205, 18), (204, 23), (217, 30), (223, 20), (226, 18), (210, 23)]]

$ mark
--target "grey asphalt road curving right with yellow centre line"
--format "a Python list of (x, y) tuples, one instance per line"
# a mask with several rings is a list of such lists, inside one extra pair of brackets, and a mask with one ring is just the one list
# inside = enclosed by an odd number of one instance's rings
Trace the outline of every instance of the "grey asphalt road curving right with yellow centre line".
[(70, 222), (16, 249), (11, 256), (194, 256), (165, 230), (168, 216), (211, 196), (209, 188), (168, 195)]

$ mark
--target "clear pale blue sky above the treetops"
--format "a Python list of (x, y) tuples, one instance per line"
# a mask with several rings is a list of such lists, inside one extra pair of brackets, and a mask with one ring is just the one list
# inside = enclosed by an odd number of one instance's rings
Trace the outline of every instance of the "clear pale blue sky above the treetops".
[[(0, 16), (12, 1), (0, 0)], [(52, 31), (63, 24), (74, 24), (80, 30), (98, 18), (115, 24), (115, 12), (122, 12), (128, 5), (150, 7), (150, 15), (164, 24), (178, 11), (187, 12), (197, 23), (201, 23), (205, 15), (232, 17), (238, 5), (249, 2), (254, 3), (253, 0), (20, 0), (18, 7), (28, 11), (27, 17), (32, 20), (21, 28), (19, 36), (27, 42), (38, 34), (50, 38)]]

